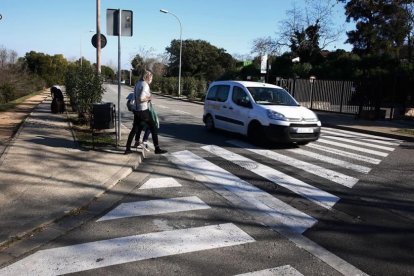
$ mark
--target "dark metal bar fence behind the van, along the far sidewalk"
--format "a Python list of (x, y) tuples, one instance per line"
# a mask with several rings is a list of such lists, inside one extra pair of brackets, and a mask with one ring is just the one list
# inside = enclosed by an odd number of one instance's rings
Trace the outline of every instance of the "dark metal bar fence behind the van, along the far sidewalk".
[(276, 84), (313, 110), (394, 119), (406, 116), (406, 110), (414, 107), (414, 80), (406, 76), (358, 82), (277, 78)]

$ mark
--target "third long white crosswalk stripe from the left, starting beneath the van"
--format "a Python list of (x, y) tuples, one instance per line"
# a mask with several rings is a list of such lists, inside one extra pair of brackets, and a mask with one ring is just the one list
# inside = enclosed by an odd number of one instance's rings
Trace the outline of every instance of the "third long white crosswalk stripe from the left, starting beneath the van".
[(230, 140), (230, 141), (227, 141), (227, 143), (244, 148), (258, 155), (265, 156), (266, 158), (276, 160), (281, 163), (285, 163), (289, 166), (299, 168), (308, 173), (328, 179), (332, 182), (341, 184), (348, 188), (352, 188), (358, 182), (358, 178), (348, 176), (348, 175), (345, 175), (345, 174), (342, 174), (340, 172), (336, 172), (333, 170), (325, 169), (323, 167), (320, 167), (320, 166), (317, 166), (317, 165), (314, 165), (308, 162), (304, 162), (304, 161), (301, 161), (301, 160), (298, 160), (298, 159), (295, 159), (295, 158), (292, 158), (286, 155), (282, 155), (282, 154), (276, 153), (271, 150), (259, 149), (253, 145), (244, 143), (242, 141)]

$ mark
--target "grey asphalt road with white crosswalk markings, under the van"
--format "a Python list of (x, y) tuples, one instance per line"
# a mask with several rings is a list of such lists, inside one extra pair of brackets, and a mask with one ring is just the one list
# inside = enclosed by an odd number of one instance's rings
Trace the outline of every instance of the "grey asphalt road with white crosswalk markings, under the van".
[[(107, 91), (116, 102), (116, 86)], [(153, 104), (169, 153), (150, 155), (83, 226), (7, 272), (414, 273), (413, 143), (323, 128), (307, 146), (257, 148), (207, 132), (201, 105)]]

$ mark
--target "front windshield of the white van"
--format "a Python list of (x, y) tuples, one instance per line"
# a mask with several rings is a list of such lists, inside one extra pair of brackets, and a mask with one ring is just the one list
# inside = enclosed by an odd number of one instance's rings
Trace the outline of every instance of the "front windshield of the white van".
[(272, 87), (247, 87), (257, 104), (298, 106), (298, 102), (284, 89)]

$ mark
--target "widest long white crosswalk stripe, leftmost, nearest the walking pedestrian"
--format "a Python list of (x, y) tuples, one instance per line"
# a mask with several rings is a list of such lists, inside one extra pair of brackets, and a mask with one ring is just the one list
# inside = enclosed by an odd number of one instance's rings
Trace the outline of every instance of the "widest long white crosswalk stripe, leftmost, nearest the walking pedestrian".
[(277, 225), (295, 233), (303, 233), (317, 220), (293, 208), (269, 193), (249, 184), (219, 166), (190, 151), (166, 155), (171, 162), (204, 182), (210, 189), (221, 194), (236, 207), (251, 212), (268, 225)]

